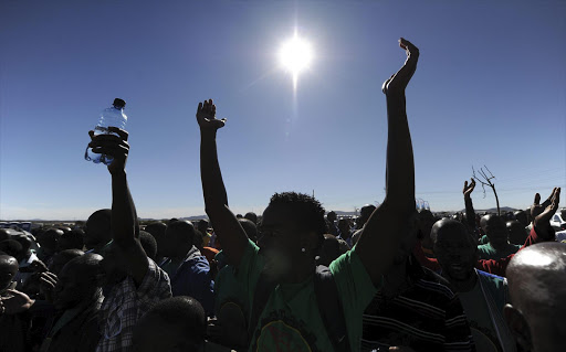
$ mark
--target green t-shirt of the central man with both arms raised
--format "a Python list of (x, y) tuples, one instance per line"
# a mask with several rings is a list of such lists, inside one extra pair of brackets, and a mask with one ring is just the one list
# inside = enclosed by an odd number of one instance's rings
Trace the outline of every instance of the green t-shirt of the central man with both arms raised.
[[(249, 242), (237, 273), (238, 281), (248, 292), (249, 307), (253, 305), (263, 266), (259, 247)], [(359, 351), (361, 314), (377, 290), (355, 248), (334, 260), (329, 269), (342, 298), (350, 349)], [(249, 351), (333, 351), (318, 312), (313, 277), (275, 287), (260, 316)]]

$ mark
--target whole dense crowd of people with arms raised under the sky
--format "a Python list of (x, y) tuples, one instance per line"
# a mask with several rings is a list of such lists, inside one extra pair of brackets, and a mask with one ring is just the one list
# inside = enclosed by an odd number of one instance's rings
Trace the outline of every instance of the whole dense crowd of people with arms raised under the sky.
[[(405, 89), (418, 49), (384, 83), (386, 198), (355, 224), (313, 196), (275, 193), (234, 215), (217, 134), (197, 109), (209, 221), (140, 226), (125, 170), (128, 135), (94, 136), (112, 156), (112, 207), (83, 228), (0, 230), (0, 351), (560, 351), (566, 244), (549, 224), (560, 189), (528, 212), (439, 218), (416, 210)], [(377, 188), (377, 185), (375, 185)]]

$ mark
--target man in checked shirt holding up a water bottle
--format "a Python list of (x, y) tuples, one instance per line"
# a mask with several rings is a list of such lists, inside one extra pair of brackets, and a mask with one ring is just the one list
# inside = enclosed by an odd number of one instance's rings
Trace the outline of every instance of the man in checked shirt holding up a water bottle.
[[(96, 348), (98, 352), (130, 351), (134, 326), (138, 319), (159, 300), (171, 297), (169, 277), (147, 257), (137, 238), (139, 226), (136, 207), (125, 170), (129, 151), (128, 134), (114, 127), (109, 127), (109, 131), (117, 136), (94, 136), (94, 131), (88, 132), (92, 139), (88, 146), (94, 152), (114, 158), (108, 166), (112, 175), (112, 244), (102, 248), (106, 284), (113, 284), (113, 287), (101, 308), (103, 338)], [(107, 220), (107, 215), (104, 218)], [(91, 230), (87, 223), (86, 233)], [(96, 234), (106, 235), (107, 230), (106, 225), (101, 226)], [(102, 237), (99, 244), (106, 238)]]

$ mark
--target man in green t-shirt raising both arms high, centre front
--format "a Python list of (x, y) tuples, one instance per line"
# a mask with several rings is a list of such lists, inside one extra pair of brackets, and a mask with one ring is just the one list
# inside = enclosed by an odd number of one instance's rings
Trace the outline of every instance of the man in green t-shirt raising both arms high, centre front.
[[(415, 212), (415, 166), (405, 88), (416, 70), (418, 52), (412, 51), (413, 46), (409, 51), (410, 43), (405, 40), (401, 45), (407, 49), (408, 60), (384, 87), (389, 129), (386, 199), (369, 216), (357, 246), (334, 260), (329, 273), (317, 270), (315, 263), (326, 231), (325, 211), (307, 194), (275, 193), (263, 212), (260, 246), (249, 241), (228, 207), (218, 162), (217, 130), (226, 120), (216, 118), (211, 99), (199, 104), (206, 211), (252, 307), (249, 351), (276, 351), (282, 344), (290, 351), (359, 349), (361, 313), (376, 287), (380, 287), (401, 238), (408, 235), (407, 218)], [(326, 309), (319, 309), (315, 289), (321, 286), (316, 282), (329, 276), (334, 282), (329, 281), (321, 297), (334, 298)]]

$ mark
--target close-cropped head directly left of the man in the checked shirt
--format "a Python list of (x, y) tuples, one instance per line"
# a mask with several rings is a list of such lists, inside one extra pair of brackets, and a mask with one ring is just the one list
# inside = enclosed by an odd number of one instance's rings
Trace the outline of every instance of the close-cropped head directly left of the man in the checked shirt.
[(102, 256), (85, 254), (65, 264), (53, 292), (56, 309), (71, 309), (92, 302), (103, 284)]

